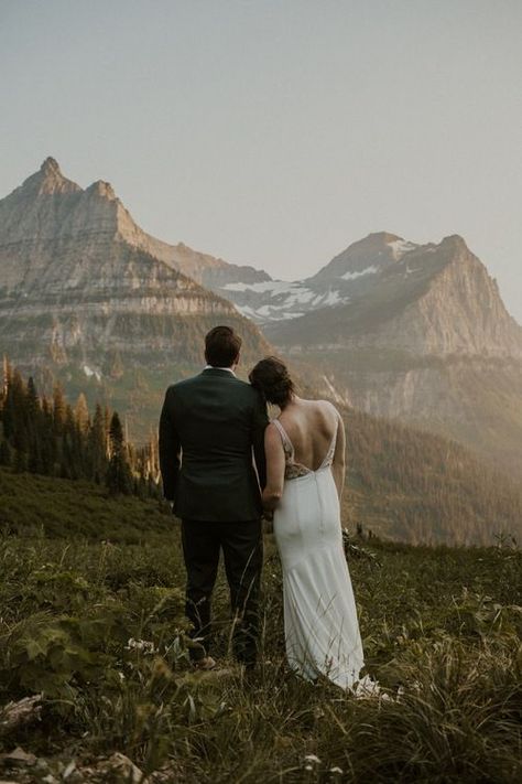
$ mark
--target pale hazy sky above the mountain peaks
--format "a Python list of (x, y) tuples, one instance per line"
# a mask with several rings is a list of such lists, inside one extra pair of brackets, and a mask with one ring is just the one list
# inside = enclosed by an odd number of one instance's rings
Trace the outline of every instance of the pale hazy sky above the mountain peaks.
[(0, 196), (53, 155), (282, 278), (461, 234), (522, 320), (521, 0), (0, 0)]

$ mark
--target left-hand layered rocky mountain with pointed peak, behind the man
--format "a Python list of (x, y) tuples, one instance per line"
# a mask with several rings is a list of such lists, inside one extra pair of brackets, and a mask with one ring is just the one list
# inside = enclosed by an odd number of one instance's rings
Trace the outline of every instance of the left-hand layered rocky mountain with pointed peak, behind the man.
[(0, 351), (44, 390), (61, 379), (69, 395), (111, 401), (134, 436), (166, 384), (200, 367), (216, 323), (238, 329), (246, 364), (270, 352), (195, 280), (233, 279), (233, 265), (149, 236), (109, 183), (83, 190), (52, 158), (0, 201)]

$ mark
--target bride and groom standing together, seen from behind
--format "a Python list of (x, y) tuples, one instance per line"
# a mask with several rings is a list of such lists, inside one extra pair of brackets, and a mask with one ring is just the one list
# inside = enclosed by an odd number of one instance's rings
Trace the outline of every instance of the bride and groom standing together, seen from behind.
[[(198, 668), (216, 664), (210, 599), (222, 549), (235, 655), (255, 663), (264, 507), (283, 567), (289, 664), (307, 680), (323, 675), (357, 692), (369, 678), (359, 681), (362, 645), (341, 540), (342, 421), (331, 404), (300, 398), (274, 357), (255, 365), (250, 384), (239, 380), (240, 347), (229, 326), (211, 330), (207, 366), (168, 387), (160, 420), (164, 495), (182, 518), (186, 614), (202, 643), (191, 655)], [(281, 409), (270, 423), (267, 402)]]

